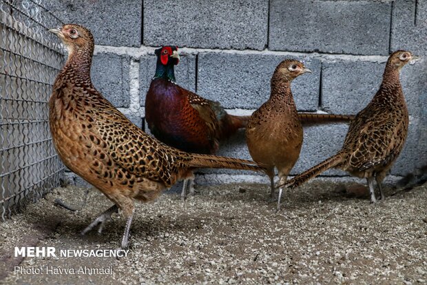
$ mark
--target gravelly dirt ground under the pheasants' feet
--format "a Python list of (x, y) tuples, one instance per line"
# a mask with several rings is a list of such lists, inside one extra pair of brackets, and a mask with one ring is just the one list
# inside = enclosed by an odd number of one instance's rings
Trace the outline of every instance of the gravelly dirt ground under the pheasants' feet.
[[(346, 187), (344, 187), (346, 186)], [(427, 281), (427, 184), (386, 188), (370, 204), (348, 184), (314, 181), (284, 195), (282, 211), (262, 184), (199, 186), (183, 203), (177, 194), (138, 204), (129, 256), (14, 257), (14, 246), (114, 249), (125, 219), (114, 216), (102, 235), (80, 231), (111, 206), (91, 190), (57, 188), (0, 224), (3, 284), (424, 284)], [(22, 268), (112, 268), (111, 274), (24, 274)]]

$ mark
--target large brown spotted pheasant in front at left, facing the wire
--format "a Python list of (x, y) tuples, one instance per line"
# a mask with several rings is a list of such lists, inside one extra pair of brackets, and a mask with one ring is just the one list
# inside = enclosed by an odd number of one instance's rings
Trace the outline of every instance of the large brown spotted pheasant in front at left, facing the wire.
[(90, 30), (66, 24), (50, 30), (65, 44), (68, 59), (54, 82), (49, 122), (56, 151), (68, 168), (101, 190), (114, 206), (82, 234), (120, 208), (127, 223), (121, 246), (127, 248), (134, 199), (149, 202), (191, 175), (194, 168), (262, 170), (253, 161), (185, 153), (150, 137), (98, 92), (90, 79), (94, 38)]

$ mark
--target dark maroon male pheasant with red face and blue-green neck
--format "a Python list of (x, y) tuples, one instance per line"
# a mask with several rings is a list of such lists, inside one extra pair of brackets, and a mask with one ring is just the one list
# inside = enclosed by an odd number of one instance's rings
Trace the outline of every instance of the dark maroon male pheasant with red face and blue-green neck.
[[(222, 139), (247, 126), (250, 116), (230, 115), (220, 103), (200, 97), (176, 83), (174, 66), (180, 60), (178, 47), (164, 46), (155, 54), (156, 74), (145, 98), (145, 119), (154, 137), (189, 153), (212, 155)], [(313, 113), (298, 116), (303, 124), (353, 119), (353, 116)], [(183, 199), (188, 190), (193, 192), (193, 179), (185, 181)]]

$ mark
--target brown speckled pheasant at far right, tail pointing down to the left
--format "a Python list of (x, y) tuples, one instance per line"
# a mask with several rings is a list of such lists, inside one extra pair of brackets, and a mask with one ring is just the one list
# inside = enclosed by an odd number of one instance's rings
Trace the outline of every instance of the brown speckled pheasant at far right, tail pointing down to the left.
[(379, 90), (351, 122), (342, 149), (286, 185), (295, 188), (329, 168), (340, 168), (355, 177), (366, 178), (372, 203), (377, 202), (375, 179), (384, 199), (382, 181), (402, 151), (408, 134), (408, 108), (399, 75), (406, 63), (416, 59), (411, 52), (393, 52), (388, 57)]

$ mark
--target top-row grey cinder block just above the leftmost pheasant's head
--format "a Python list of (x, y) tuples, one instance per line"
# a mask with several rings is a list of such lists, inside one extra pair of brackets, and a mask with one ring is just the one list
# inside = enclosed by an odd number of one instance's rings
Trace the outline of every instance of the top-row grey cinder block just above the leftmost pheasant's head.
[(142, 2), (127, 1), (48, 1), (45, 5), (65, 23), (89, 28), (95, 43), (103, 46), (140, 46)]

